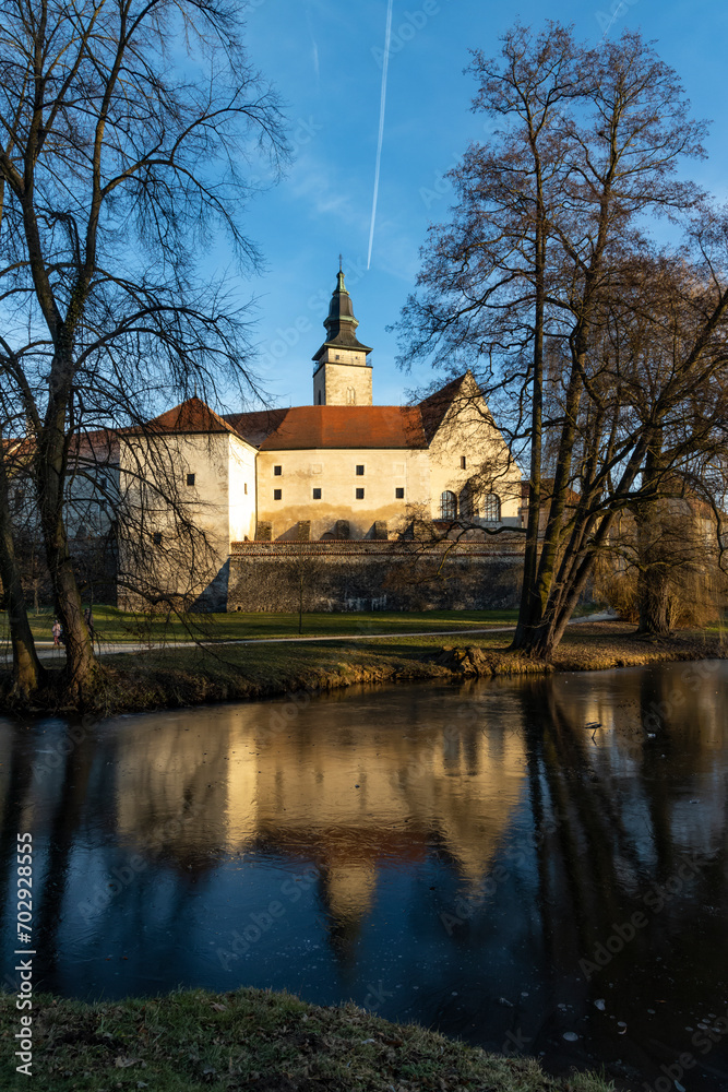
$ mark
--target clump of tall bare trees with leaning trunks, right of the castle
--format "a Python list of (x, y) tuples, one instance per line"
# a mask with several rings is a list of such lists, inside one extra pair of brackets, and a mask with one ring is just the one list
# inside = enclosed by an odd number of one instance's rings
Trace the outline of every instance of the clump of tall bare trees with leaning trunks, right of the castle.
[[(561, 639), (614, 513), (641, 488), (661, 422), (721, 366), (716, 337), (728, 285), (716, 237), (709, 248), (717, 278), (702, 321), (681, 343), (672, 371), (651, 356), (646, 331), (660, 317), (647, 312), (636, 322), (644, 294), (637, 301), (635, 285), (659, 272), (663, 259), (641, 228), (649, 216), (682, 215), (701, 200), (675, 175), (682, 158), (702, 154), (705, 127), (690, 118), (675, 72), (637, 34), (596, 50), (574, 46), (565, 34), (554, 24), (538, 36), (516, 28), (505, 36), (500, 62), (476, 55), (476, 108), (500, 117), (504, 131), (487, 147), (468, 150), (456, 168), (458, 204), (452, 222), (432, 230), (423, 292), (409, 301), (403, 323), (415, 325), (405, 336), (415, 356), (433, 346), (440, 357), (449, 349), (477, 355), (477, 378), (499, 419), (502, 413), (509, 419), (510, 402), (512, 441), (523, 443), (532, 432), (529, 542), (537, 563), (527, 554), (514, 646), (544, 658)], [(549, 115), (537, 162), (524, 104), (538, 105), (560, 72), (554, 48), (568, 73), (558, 86), (569, 93)], [(503, 100), (503, 86), (512, 102)], [(499, 202), (508, 210), (501, 234)], [(514, 292), (514, 284), (526, 288)], [(631, 341), (619, 330), (626, 314)], [(527, 346), (539, 341), (540, 352), (529, 357)], [(683, 437), (666, 466), (679, 465), (689, 450)], [(544, 519), (537, 501), (545, 471)]]

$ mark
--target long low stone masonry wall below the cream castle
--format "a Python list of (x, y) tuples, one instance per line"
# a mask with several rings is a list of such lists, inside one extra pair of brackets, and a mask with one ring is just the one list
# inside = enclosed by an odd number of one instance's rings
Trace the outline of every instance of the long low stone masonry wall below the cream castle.
[(297, 612), (301, 584), (306, 612), (517, 607), (521, 543), (236, 543), (227, 608)]

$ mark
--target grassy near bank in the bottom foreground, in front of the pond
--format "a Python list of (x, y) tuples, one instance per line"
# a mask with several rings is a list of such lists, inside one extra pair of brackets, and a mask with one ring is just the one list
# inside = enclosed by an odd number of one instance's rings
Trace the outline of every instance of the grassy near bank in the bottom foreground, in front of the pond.
[[(611, 1092), (586, 1073), (546, 1076), (506, 1058), (393, 1024), (354, 1005), (320, 1008), (260, 989), (188, 990), (33, 1007), (32, 1078), (15, 1070), (14, 996), (0, 994), (0, 1087), (44, 1092)], [(35, 1080), (34, 1080), (35, 1079)]]

